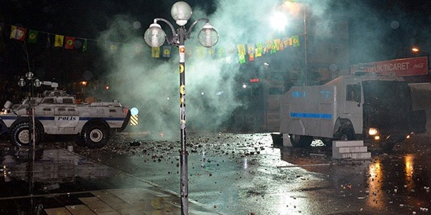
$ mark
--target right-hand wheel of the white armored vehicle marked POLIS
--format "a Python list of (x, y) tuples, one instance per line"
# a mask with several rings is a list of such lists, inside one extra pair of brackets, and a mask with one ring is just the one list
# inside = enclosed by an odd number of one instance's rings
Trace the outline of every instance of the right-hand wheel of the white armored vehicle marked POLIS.
[(100, 123), (91, 123), (82, 128), (81, 144), (88, 148), (102, 148), (108, 144), (109, 130)]

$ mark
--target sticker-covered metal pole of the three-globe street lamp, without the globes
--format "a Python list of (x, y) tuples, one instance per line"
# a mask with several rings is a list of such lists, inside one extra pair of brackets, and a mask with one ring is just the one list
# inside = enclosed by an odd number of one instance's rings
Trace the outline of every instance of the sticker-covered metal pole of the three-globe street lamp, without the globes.
[(181, 215), (188, 215), (188, 152), (186, 150), (186, 47), (184, 40), (186, 28), (179, 27), (179, 109), (181, 128), (181, 150), (179, 151), (181, 163)]

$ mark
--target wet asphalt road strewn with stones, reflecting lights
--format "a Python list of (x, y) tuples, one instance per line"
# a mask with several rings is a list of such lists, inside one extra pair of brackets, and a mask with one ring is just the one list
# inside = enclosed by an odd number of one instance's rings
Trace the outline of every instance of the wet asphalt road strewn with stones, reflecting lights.
[[(68, 148), (72, 144), (50, 143), (43, 150)], [(428, 137), (418, 136), (399, 144), (389, 154), (369, 146), (372, 159), (339, 161), (321, 147), (276, 148), (270, 134), (189, 135), (189, 199), (221, 214), (428, 214), (429, 144)], [(3, 147), (3, 165), (10, 165), (11, 158), (16, 158), (9, 155), (12, 151)], [(91, 173), (101, 179), (92, 180), (86, 189), (103, 187), (103, 177), (109, 178), (111, 185), (126, 183), (114, 180), (118, 172), (126, 172), (163, 189), (177, 193), (180, 190), (177, 140), (119, 136), (105, 148), (74, 145), (74, 152), (103, 164), (99, 165), (102, 169)], [(50, 154), (41, 154), (42, 160), (46, 155)], [(23, 177), (16, 159), (12, 161), (15, 169), (6, 172), (1, 186), (3, 190), (8, 186), (8, 192), (14, 190), (13, 186), (24, 192), (18, 187), (22, 185), (11, 183)], [(74, 168), (81, 170), (74, 170), (75, 173), (86, 172), (85, 165), (93, 165), (74, 162), (78, 163)], [(51, 187), (40, 187), (51, 192), (73, 190), (74, 183), (82, 186), (88, 178), (66, 174), (52, 179), (55, 177), (49, 170), (38, 176), (36, 180), (55, 181)]]

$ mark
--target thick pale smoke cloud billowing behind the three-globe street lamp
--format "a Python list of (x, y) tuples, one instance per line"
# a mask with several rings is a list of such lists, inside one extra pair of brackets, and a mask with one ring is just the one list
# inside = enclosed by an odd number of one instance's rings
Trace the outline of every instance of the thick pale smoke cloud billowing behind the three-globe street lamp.
[[(234, 109), (245, 105), (234, 98), (235, 85), (239, 84), (234, 82), (234, 78), (240, 72), (236, 46), (239, 43), (257, 43), (274, 38), (268, 14), (281, 2), (219, 0), (214, 3), (217, 9), (212, 14), (205, 14), (200, 8), (193, 8), (189, 23), (201, 17), (208, 17), (219, 32), (217, 46), (234, 47), (235, 50), (231, 54), (233, 59), (228, 57), (213, 60), (197, 56), (186, 58), (186, 116), (189, 129), (217, 129), (228, 120)], [(170, 20), (170, 17), (162, 18)], [(134, 32), (134, 19), (130, 16), (116, 16), (109, 30), (101, 34), (101, 41), (121, 40), (130, 44), (128, 48), (121, 48), (119, 54), (106, 53), (105, 61), (112, 65), (106, 71), (108, 81), (112, 91), (116, 93), (111, 97), (119, 98), (127, 106), (137, 106), (140, 109), (139, 123), (146, 124), (146, 128), (154, 129), (152, 131), (177, 131), (178, 56), (172, 55), (168, 60), (152, 58), (150, 47), (141, 35)], [(141, 22), (148, 22), (142, 23), (143, 32), (152, 19)], [(163, 23), (161, 25), (163, 26)], [(203, 23), (194, 27), (191, 38), (186, 41), (186, 50), (194, 49), (199, 44), (197, 32), (201, 25)], [(171, 34), (168, 27), (165, 26), (164, 30), (166, 34)], [(289, 33), (292, 32), (283, 32), (285, 36), (291, 36)], [(135, 52), (136, 47), (143, 47), (142, 52)], [(172, 51), (175, 49), (176, 47), (172, 47)]]

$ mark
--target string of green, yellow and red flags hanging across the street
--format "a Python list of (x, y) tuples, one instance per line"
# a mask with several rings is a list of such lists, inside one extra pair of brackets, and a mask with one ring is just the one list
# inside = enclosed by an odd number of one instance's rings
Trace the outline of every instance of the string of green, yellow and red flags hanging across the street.
[[(0, 23), (0, 33), (6, 32), (6, 23)], [(63, 47), (64, 49), (79, 49), (81, 52), (86, 52), (88, 49), (88, 41), (97, 41), (91, 38), (81, 38), (76, 36), (64, 36), (61, 34), (52, 34), (50, 32), (41, 32), (37, 30), (28, 30), (25, 27), (17, 27), (10, 25), (10, 38), (17, 41), (27, 41), (27, 43), (39, 43), (41, 34), (46, 34), (46, 47)], [(54, 39), (52, 44), (52, 39)], [(130, 44), (114, 43), (110, 41), (102, 41), (105, 43), (106, 49), (114, 53), (120, 48), (121, 45), (130, 47)], [(247, 43), (238, 44), (237, 47), (228, 49), (229, 54), (234, 54), (237, 51), (238, 60), (240, 64), (247, 61), (253, 61), (254, 58), (259, 58), (263, 54), (274, 54), (283, 51), (287, 47), (299, 47), (299, 36), (290, 36), (285, 38), (276, 38), (268, 40), (263, 43)], [(139, 45), (134, 47), (135, 52), (142, 52), (143, 46)], [(236, 49), (236, 50), (235, 50)], [(172, 46), (163, 45), (162, 47), (152, 47), (152, 58), (170, 58)], [(195, 50), (188, 49), (186, 56), (191, 57), (196, 55), (198, 58), (224, 58), (226, 56), (226, 49), (224, 47), (197, 47)]]

